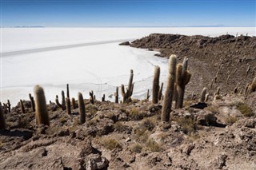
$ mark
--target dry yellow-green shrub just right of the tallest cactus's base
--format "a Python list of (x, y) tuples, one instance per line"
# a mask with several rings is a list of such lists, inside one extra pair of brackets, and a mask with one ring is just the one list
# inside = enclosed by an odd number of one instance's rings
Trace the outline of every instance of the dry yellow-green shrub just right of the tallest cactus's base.
[(182, 132), (189, 136), (193, 135), (198, 128), (196, 121), (191, 117), (179, 117), (174, 121), (182, 127)]

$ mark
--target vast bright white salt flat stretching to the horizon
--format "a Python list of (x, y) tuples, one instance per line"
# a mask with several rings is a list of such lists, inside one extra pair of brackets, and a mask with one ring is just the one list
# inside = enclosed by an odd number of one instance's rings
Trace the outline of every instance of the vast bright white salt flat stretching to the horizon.
[[(120, 46), (118, 41), (142, 38), (151, 33), (209, 35), (249, 34), (255, 36), (254, 27), (219, 28), (2, 28), (1, 101), (28, 100), (34, 85), (42, 85), (47, 101), (66, 90), (70, 84), (70, 96), (80, 91), (86, 98), (94, 90), (100, 99), (105, 93), (112, 100), (116, 86), (126, 84), (130, 69), (134, 69), (134, 97), (144, 98), (151, 88), (154, 65), (161, 67), (161, 81), (166, 80), (167, 60), (154, 57), (156, 52)], [(109, 43), (101, 43), (108, 42)], [(114, 41), (114, 42), (113, 42)], [(92, 43), (73, 48), (44, 49), (63, 45)]]

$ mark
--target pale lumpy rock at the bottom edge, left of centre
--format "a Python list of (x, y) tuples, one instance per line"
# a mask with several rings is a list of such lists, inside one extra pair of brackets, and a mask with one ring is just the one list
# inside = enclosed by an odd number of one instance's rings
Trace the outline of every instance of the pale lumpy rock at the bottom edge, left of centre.
[(90, 155), (87, 156), (86, 161), (86, 170), (97, 170), (97, 169), (103, 169), (107, 168), (109, 165), (109, 160), (107, 160), (103, 156), (97, 155)]

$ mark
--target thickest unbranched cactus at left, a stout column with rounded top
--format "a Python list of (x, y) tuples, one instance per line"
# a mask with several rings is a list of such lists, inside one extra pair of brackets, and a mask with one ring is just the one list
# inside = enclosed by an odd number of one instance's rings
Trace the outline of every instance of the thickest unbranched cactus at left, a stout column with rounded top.
[(46, 108), (46, 97), (41, 86), (34, 86), (35, 98), (35, 117), (38, 125), (50, 125), (48, 112)]

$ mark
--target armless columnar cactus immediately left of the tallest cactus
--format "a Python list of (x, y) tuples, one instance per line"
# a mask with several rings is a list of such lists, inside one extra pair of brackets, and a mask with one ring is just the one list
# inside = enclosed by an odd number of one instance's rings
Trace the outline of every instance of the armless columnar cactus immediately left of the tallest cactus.
[(158, 93), (159, 93), (159, 77), (160, 77), (160, 67), (154, 67), (154, 80), (153, 80), (153, 90), (152, 90), (152, 102), (154, 104), (158, 103)]

